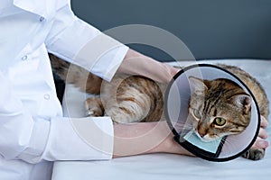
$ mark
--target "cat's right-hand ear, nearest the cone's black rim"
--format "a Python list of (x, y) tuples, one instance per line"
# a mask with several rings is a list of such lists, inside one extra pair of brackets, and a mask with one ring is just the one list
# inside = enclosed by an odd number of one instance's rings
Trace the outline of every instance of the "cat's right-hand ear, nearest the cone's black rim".
[(244, 113), (248, 114), (251, 108), (251, 98), (248, 94), (234, 95), (233, 101), (239, 108), (243, 108)]

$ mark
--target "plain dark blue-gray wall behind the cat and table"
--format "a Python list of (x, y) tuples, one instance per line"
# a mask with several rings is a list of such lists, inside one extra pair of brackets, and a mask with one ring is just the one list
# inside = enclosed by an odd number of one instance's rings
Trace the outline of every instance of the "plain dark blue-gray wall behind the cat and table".
[[(72, 0), (71, 4), (75, 14), (101, 31), (125, 24), (170, 31), (197, 59), (271, 58), (270, 0)], [(173, 60), (153, 47), (129, 46), (158, 60)]]

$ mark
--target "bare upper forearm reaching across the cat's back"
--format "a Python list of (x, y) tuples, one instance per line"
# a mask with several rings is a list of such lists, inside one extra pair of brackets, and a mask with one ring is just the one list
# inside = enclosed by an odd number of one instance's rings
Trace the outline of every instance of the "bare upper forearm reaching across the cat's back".
[(165, 83), (169, 82), (178, 71), (178, 68), (146, 57), (133, 49), (127, 51), (126, 57), (118, 68), (120, 73), (146, 76), (154, 81)]

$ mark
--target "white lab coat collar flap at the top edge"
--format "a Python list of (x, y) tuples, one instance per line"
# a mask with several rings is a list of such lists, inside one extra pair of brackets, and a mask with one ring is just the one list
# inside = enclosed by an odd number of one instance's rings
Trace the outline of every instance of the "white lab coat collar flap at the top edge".
[(15, 6), (45, 19), (55, 14), (56, 2), (56, 0), (13, 0)]

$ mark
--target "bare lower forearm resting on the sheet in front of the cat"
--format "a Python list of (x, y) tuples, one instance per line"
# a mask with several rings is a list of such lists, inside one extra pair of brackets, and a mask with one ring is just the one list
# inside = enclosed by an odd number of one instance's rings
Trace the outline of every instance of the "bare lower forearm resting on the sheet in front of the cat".
[(191, 155), (173, 141), (173, 133), (165, 121), (117, 124), (114, 131), (113, 157), (158, 152)]

